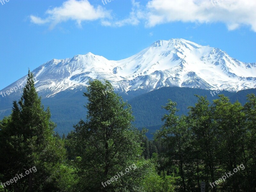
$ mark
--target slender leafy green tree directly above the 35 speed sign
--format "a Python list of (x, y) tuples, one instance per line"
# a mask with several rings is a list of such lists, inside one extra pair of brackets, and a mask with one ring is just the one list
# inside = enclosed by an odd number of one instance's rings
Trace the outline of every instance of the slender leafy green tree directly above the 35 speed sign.
[[(214, 182), (216, 172), (216, 145), (217, 130), (212, 123), (212, 110), (210, 101), (206, 97), (198, 96), (195, 107), (189, 107), (189, 122), (191, 131), (194, 133), (193, 157), (196, 161), (196, 181), (200, 190), (201, 181)], [(202, 167), (203, 166), (203, 167)], [(206, 185), (206, 191), (210, 186)], [(213, 186), (216, 191), (216, 186)]]

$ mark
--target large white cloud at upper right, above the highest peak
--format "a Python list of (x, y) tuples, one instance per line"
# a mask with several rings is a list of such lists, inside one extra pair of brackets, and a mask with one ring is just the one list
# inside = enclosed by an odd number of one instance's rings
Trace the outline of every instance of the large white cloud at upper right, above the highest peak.
[(256, 32), (255, 0), (150, 0), (147, 4), (147, 27), (182, 22), (223, 22), (229, 30), (241, 25)]

